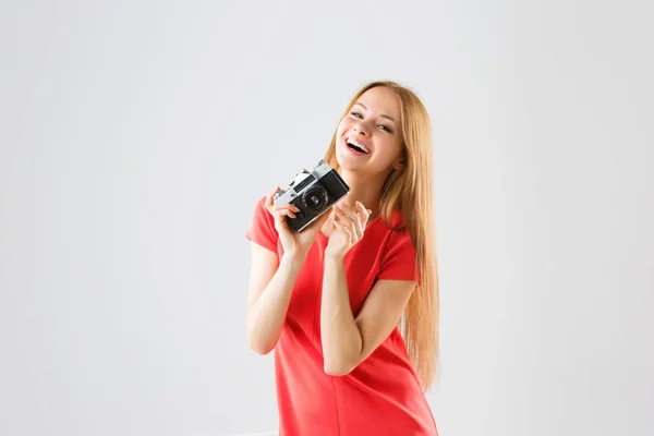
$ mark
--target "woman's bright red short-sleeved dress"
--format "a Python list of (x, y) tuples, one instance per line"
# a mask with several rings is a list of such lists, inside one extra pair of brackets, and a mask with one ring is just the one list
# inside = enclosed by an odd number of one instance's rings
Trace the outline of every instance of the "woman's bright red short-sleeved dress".
[[(396, 213), (392, 225), (401, 222)], [(255, 207), (246, 238), (282, 255), (265, 197)], [(298, 276), (275, 348), (280, 436), (437, 436), (436, 423), (396, 327), (350, 374), (323, 368), (320, 295), (328, 239), (318, 232)], [(415, 249), (407, 231), (377, 217), (346, 255), (354, 316), (377, 279), (417, 280)]]

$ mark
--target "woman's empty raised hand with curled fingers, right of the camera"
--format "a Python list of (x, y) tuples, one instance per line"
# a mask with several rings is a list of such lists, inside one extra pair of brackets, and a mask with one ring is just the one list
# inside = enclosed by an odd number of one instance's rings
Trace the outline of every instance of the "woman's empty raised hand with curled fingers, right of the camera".
[(352, 207), (346, 202), (334, 205), (334, 231), (325, 249), (326, 256), (342, 258), (363, 238), (363, 232), (371, 216), (360, 202)]

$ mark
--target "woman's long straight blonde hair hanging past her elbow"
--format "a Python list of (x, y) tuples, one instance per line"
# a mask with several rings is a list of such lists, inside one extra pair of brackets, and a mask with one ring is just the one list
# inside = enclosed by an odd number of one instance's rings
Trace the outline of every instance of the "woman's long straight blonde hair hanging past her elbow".
[[(433, 202), (432, 125), (427, 110), (409, 88), (391, 81), (372, 82), (361, 88), (348, 105), (346, 117), (359, 97), (376, 86), (396, 92), (400, 100), (404, 168), (393, 170), (382, 189), (380, 219), (390, 226), (391, 211), (399, 209), (417, 253), (421, 283), (407, 304), (401, 331), (417, 377), (427, 390), (439, 373), (438, 346), (438, 261)], [(341, 117), (341, 118), (342, 118)], [(325, 155), (337, 171), (336, 132)], [(396, 229), (399, 230), (399, 229)]]

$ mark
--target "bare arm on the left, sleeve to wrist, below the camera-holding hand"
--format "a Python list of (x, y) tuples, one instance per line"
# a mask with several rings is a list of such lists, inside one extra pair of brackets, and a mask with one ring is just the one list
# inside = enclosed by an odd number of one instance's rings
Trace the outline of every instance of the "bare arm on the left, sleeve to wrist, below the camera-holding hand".
[(278, 255), (252, 243), (247, 295), (247, 343), (259, 354), (277, 344), (287, 316), (293, 286), (305, 255)]

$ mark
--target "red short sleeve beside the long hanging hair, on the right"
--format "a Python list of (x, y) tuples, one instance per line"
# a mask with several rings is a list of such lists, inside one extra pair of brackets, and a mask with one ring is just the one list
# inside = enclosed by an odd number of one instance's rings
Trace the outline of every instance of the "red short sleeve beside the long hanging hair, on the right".
[(407, 230), (393, 231), (389, 237), (377, 277), (388, 280), (414, 280), (420, 286), (417, 254)]

